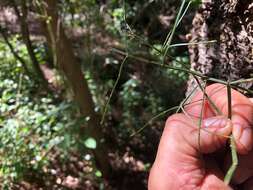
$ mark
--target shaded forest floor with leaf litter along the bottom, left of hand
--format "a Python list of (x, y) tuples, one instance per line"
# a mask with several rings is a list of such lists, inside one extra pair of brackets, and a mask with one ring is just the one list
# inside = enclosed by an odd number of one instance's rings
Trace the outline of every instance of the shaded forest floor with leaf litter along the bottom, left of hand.
[[(152, 139), (158, 139), (159, 130), (152, 127)], [(25, 176), (26, 181), (22, 181), (14, 186), (17, 190), (39, 190), (39, 189), (77, 189), (77, 190), (141, 190), (146, 189), (149, 164), (155, 155), (155, 140), (150, 140), (148, 144), (143, 144), (139, 139), (130, 139), (128, 146), (122, 144), (117, 147), (116, 152), (111, 150), (109, 154), (112, 171), (108, 180), (97, 180), (89, 175), (94, 169), (89, 156), (81, 155), (77, 152), (69, 152), (68, 157), (61, 155), (57, 150), (53, 150), (48, 155), (50, 164), (44, 167), (40, 173), (30, 173)], [(119, 139), (125, 141), (125, 139)], [(126, 148), (127, 147), (127, 148)]]

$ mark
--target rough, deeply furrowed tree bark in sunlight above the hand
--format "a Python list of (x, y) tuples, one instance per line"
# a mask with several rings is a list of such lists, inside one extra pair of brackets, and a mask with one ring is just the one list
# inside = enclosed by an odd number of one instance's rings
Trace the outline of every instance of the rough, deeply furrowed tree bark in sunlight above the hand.
[[(223, 80), (252, 77), (253, 0), (203, 0), (193, 20), (191, 41), (217, 40), (189, 47), (192, 69)], [(189, 89), (195, 86), (189, 81)], [(243, 84), (252, 89), (252, 83)]]

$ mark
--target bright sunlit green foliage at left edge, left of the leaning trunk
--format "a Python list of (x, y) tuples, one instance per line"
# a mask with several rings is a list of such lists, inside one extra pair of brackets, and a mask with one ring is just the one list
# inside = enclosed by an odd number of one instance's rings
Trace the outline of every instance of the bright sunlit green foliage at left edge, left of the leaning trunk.
[(0, 52), (0, 178), (10, 187), (31, 171), (41, 172), (52, 149), (69, 145), (65, 132), (78, 128), (79, 120), (73, 103), (37, 91), (3, 43)]

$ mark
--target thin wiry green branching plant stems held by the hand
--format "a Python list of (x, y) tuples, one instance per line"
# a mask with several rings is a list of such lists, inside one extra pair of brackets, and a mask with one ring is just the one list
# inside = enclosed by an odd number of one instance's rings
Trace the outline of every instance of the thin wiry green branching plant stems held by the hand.
[[(162, 56), (162, 62), (160, 62), (159, 60), (156, 60), (156, 59), (147, 59), (147, 58), (144, 58), (142, 56), (139, 56), (138, 54), (129, 53), (128, 51), (124, 52), (124, 51), (119, 50), (119, 49), (112, 49), (112, 51), (114, 53), (119, 54), (119, 55), (121, 55), (121, 56), (123, 56), (125, 58), (123, 59), (123, 62), (121, 64), (121, 67), (120, 67), (120, 70), (119, 70), (118, 78), (117, 78), (117, 80), (116, 80), (116, 82), (114, 84), (113, 90), (112, 90), (112, 92), (111, 92), (111, 94), (109, 96), (109, 99), (108, 99), (107, 103), (106, 103), (101, 123), (104, 122), (105, 115), (106, 115), (106, 112), (107, 112), (107, 107), (109, 106), (109, 102), (110, 102), (110, 99), (111, 99), (111, 97), (113, 95), (113, 92), (115, 90), (115, 86), (118, 83), (119, 77), (120, 77), (121, 72), (122, 72), (122, 67), (123, 67), (124, 62), (126, 61), (126, 58), (134, 59), (134, 60), (142, 62), (142, 63), (153, 64), (153, 65), (159, 66), (161, 68), (167, 68), (167, 69), (172, 69), (172, 70), (177, 70), (177, 71), (181, 71), (181, 72), (187, 73), (187, 74), (191, 75), (196, 80), (196, 83), (197, 83), (197, 86), (195, 86), (193, 88), (193, 90), (186, 96), (186, 98), (180, 103), (179, 106), (175, 106), (175, 107), (166, 109), (166, 110), (160, 112), (159, 114), (155, 115), (144, 126), (142, 126), (136, 132), (134, 132), (133, 134), (131, 134), (131, 137), (133, 137), (136, 134), (142, 132), (148, 125), (150, 125), (151, 123), (153, 123), (154, 120), (156, 120), (156, 119), (158, 119), (158, 118), (164, 116), (165, 114), (167, 114), (169, 112), (172, 112), (174, 110), (176, 110), (176, 112), (182, 111), (183, 113), (186, 114), (186, 116), (188, 116), (189, 118), (191, 118), (188, 115), (188, 113), (184, 110), (184, 107), (190, 104), (189, 103), (190, 102), (189, 99), (197, 91), (197, 89), (200, 89), (202, 91), (202, 93), (203, 93), (203, 98), (200, 99), (200, 100), (197, 100), (197, 101), (201, 101), (202, 102), (201, 103), (202, 104), (202, 108), (201, 108), (201, 113), (200, 113), (200, 118), (199, 118), (199, 123), (198, 123), (198, 130), (199, 130), (198, 143), (199, 143), (199, 147), (200, 147), (200, 132), (201, 132), (201, 130), (203, 130), (205, 132), (208, 132), (208, 133), (212, 133), (212, 132), (210, 132), (210, 131), (208, 131), (208, 130), (206, 130), (206, 129), (204, 129), (204, 128), (201, 127), (202, 126), (203, 110), (204, 110), (204, 103), (205, 103), (205, 101), (208, 101), (208, 103), (210, 104), (210, 106), (216, 112), (216, 115), (223, 115), (222, 112), (221, 112), (221, 110), (219, 110), (218, 107), (215, 105), (215, 103), (212, 101), (211, 97), (206, 93), (206, 91), (205, 91), (206, 84), (208, 84), (210, 82), (212, 82), (212, 83), (220, 83), (220, 84), (225, 85), (225, 87), (227, 88), (228, 119), (232, 118), (231, 88), (235, 88), (235, 89), (241, 91), (242, 93), (248, 93), (248, 94), (251, 94), (251, 95), (253, 94), (252, 90), (240, 86), (240, 84), (242, 84), (242, 83), (253, 82), (253, 78), (240, 79), (240, 80), (235, 80), (235, 81), (227, 82), (227, 81), (224, 81), (224, 80), (221, 80), (221, 79), (205, 76), (205, 75), (203, 75), (200, 72), (197, 72), (195, 70), (192, 70), (192, 69), (188, 68), (187, 66), (184, 65), (183, 62), (176, 60), (173, 56), (171, 56), (171, 55), (168, 54), (168, 50), (170, 48), (173, 48), (173, 47), (191, 46), (191, 45), (197, 45), (197, 44), (216, 43), (215, 40), (211, 40), (211, 41), (201, 41), (201, 42), (189, 42), (189, 43), (172, 44), (172, 39), (173, 39), (173, 36), (175, 34), (176, 28), (179, 26), (180, 22), (182, 21), (183, 17), (185, 16), (187, 10), (189, 9), (189, 7), (190, 7), (190, 5), (192, 3), (192, 0), (188, 1), (187, 4), (186, 3), (187, 3), (186, 0), (182, 0), (181, 6), (179, 8), (179, 11), (178, 11), (178, 14), (177, 14), (177, 17), (176, 17), (176, 20), (175, 20), (175, 23), (173, 24), (172, 30), (168, 33), (168, 35), (166, 37), (166, 40), (163, 43), (162, 50), (157, 49), (153, 45), (149, 44), (144, 38), (142, 38), (141, 36), (135, 34), (133, 32), (133, 30), (131, 29), (131, 27), (128, 25), (127, 21), (126, 21), (126, 15), (124, 15), (125, 24), (126, 24), (127, 29), (128, 29), (128, 36), (132, 37), (132, 39), (138, 40), (142, 45), (145, 45), (148, 48), (150, 48), (150, 49), (154, 50), (155, 52), (157, 52), (158, 55)], [(125, 6), (124, 6), (124, 8), (125, 8)], [(125, 10), (125, 12), (126, 12), (126, 10)], [(177, 63), (179, 63), (183, 67), (175, 67), (175, 66), (168, 65), (166, 63), (166, 59), (167, 58), (176, 61)], [(204, 84), (204, 86), (202, 86), (203, 84)], [(221, 90), (221, 89), (218, 89), (218, 90)], [(213, 94), (215, 94), (215, 92)], [(193, 102), (191, 102), (191, 103), (193, 103)], [(194, 123), (194, 125), (195, 124), (196, 123)], [(219, 134), (214, 134), (214, 135), (220, 136)], [(228, 172), (227, 172), (227, 174), (226, 174), (226, 176), (224, 178), (224, 182), (226, 184), (229, 184), (230, 180), (231, 180), (231, 178), (232, 178), (232, 176), (234, 174), (234, 171), (236, 169), (236, 166), (238, 164), (238, 158), (237, 158), (237, 153), (236, 153), (235, 140), (234, 140), (233, 136), (232, 135), (231, 136), (226, 136), (226, 138), (230, 139), (230, 147), (231, 147), (231, 154), (232, 154), (232, 165), (229, 168), (229, 170), (228, 170)]]

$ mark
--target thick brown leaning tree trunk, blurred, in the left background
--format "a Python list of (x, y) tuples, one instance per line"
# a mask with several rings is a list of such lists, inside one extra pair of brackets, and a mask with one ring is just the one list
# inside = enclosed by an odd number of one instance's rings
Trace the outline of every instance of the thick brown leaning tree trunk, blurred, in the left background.
[(55, 50), (56, 64), (63, 71), (69, 82), (74, 94), (74, 100), (80, 106), (82, 115), (90, 118), (87, 126), (80, 129), (81, 136), (91, 136), (96, 139), (98, 146), (94, 150), (94, 155), (97, 166), (104, 176), (108, 176), (110, 164), (105, 152), (107, 149), (105, 144), (101, 143), (103, 135), (87, 81), (83, 76), (80, 64), (74, 56), (72, 44), (66, 36), (63, 25), (58, 18), (57, 1), (45, 0), (45, 3), (44, 9), (40, 9), (45, 10), (45, 16), (50, 18), (49, 23), (44, 20), (43, 28), (45, 36), (52, 50)]

